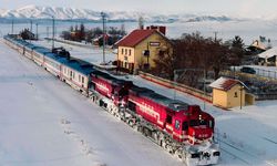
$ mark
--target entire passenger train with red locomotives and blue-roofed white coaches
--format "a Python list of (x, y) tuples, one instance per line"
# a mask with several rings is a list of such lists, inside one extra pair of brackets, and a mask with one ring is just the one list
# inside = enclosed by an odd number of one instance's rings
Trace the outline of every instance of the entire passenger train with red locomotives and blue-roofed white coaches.
[(215, 138), (215, 120), (198, 105), (137, 86), (72, 58), (62, 48), (50, 50), (11, 34), (4, 35), (4, 42), (186, 165), (218, 163), (220, 152)]

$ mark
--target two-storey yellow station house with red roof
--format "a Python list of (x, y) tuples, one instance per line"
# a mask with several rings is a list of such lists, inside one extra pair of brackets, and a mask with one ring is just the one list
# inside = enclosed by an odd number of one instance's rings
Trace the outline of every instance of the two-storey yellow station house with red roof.
[(136, 29), (115, 43), (117, 46), (117, 68), (130, 73), (151, 69), (155, 65), (154, 59), (172, 52), (172, 43), (165, 37), (165, 27), (147, 27)]

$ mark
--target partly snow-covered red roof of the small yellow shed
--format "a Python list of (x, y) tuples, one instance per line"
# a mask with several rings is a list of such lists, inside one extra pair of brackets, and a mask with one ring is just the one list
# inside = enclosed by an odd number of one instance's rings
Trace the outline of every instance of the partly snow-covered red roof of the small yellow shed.
[(240, 82), (239, 80), (234, 80), (234, 79), (228, 79), (228, 77), (219, 77), (215, 82), (209, 84), (209, 86), (213, 87), (213, 89), (228, 91), (233, 86), (235, 86), (236, 84), (240, 84), (240, 85), (243, 85), (244, 87), (247, 89), (247, 86), (243, 82)]

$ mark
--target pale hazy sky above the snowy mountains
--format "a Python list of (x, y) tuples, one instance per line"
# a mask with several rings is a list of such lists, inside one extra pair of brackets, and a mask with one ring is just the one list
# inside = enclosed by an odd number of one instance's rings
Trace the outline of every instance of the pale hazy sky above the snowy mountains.
[(17, 9), (29, 4), (95, 11), (223, 13), (245, 17), (277, 13), (276, 0), (0, 0), (0, 9)]

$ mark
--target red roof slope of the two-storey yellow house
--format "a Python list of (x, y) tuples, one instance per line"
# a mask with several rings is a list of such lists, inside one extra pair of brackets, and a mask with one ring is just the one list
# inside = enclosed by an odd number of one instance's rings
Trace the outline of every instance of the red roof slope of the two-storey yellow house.
[(148, 38), (154, 32), (157, 32), (157, 31), (156, 30), (134, 30), (133, 32), (124, 37), (122, 40), (120, 40), (115, 45), (134, 48), (135, 45), (141, 43), (143, 40)]

